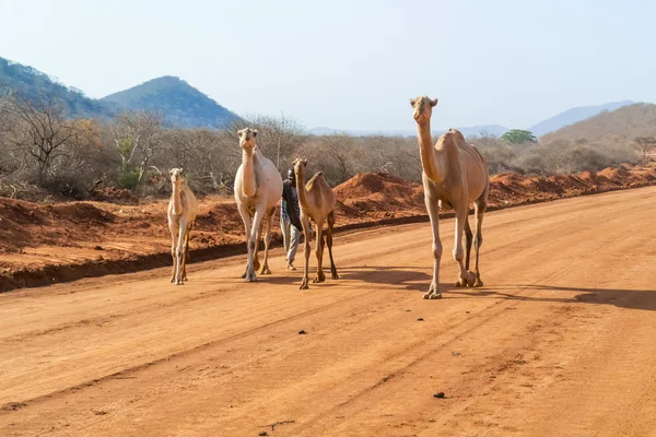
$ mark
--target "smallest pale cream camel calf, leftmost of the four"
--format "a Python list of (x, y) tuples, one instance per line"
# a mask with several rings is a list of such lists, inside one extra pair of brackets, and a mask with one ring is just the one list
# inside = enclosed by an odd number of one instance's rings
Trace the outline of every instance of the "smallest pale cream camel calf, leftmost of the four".
[(198, 214), (198, 201), (191, 192), (181, 168), (169, 172), (173, 193), (168, 201), (168, 229), (171, 229), (171, 256), (173, 271), (171, 282), (183, 285), (187, 281), (187, 258), (189, 255), (189, 233)]

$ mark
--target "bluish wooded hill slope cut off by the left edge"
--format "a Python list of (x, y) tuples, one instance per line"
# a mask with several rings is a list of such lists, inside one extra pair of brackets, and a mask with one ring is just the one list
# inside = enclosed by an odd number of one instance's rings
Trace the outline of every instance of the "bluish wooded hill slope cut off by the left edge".
[(71, 117), (102, 118), (113, 115), (103, 103), (86, 97), (80, 90), (68, 87), (40, 71), (0, 58), (0, 86), (7, 85), (37, 99), (43, 95), (61, 98)]

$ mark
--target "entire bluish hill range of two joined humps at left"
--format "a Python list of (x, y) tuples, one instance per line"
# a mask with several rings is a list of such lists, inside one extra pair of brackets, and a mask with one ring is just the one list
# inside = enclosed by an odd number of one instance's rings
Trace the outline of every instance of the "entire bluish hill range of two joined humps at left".
[(72, 118), (107, 120), (124, 110), (161, 113), (174, 127), (222, 128), (239, 117), (216, 102), (174, 76), (153, 79), (101, 99), (90, 98), (82, 91), (61, 84), (32, 67), (0, 58), (0, 85), (9, 85), (31, 98), (39, 93), (61, 98)]

